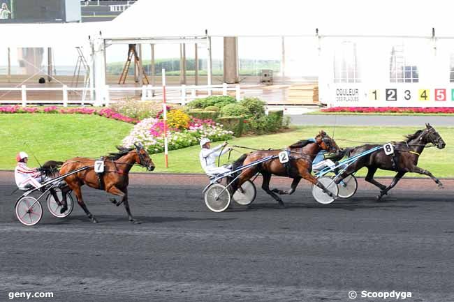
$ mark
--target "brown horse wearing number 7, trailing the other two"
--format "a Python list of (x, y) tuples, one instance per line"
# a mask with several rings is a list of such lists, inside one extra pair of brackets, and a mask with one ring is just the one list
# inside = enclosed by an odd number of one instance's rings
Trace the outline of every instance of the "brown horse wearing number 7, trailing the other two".
[(117, 202), (115, 199), (111, 199), (112, 203), (119, 206), (124, 203), (124, 209), (128, 213), (129, 221), (139, 223), (138, 220), (134, 219), (131, 215), (128, 202), (128, 184), (129, 184), (129, 170), (133, 165), (140, 165), (147, 168), (149, 171), (154, 170), (154, 163), (149, 158), (147, 151), (141, 144), (134, 144), (134, 148), (124, 148), (117, 146), (119, 152), (110, 153), (104, 158), (104, 172), (98, 178), (98, 174), (94, 172), (94, 161), (91, 158), (71, 158), (61, 166), (60, 174), (66, 174), (74, 171), (81, 167), (89, 167), (89, 169), (81, 172), (68, 175), (65, 177), (65, 181), (68, 186), (62, 189), (63, 193), (63, 207), (61, 213), (64, 213), (67, 209), (66, 204), (66, 193), (73, 190), (75, 197), (78, 199), (79, 205), (90, 218), (91, 222), (96, 223), (98, 220), (88, 211), (85, 202), (82, 199), (81, 186), (86, 184), (91, 188), (98, 190), (105, 190), (112, 195), (121, 197), (121, 201)]

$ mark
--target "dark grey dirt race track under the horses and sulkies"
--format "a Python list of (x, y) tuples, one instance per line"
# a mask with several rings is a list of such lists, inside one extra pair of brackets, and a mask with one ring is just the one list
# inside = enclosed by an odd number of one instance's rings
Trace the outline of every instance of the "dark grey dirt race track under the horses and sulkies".
[(76, 204), (68, 218), (45, 209), (38, 225), (24, 227), (14, 216), (13, 174), (1, 172), (0, 301), (26, 301), (8, 292), (71, 302), (351, 301), (351, 290), (355, 301), (385, 301), (362, 299), (363, 290), (454, 301), (454, 180), (443, 181), (439, 190), (430, 179), (404, 179), (380, 203), (360, 181), (353, 198), (330, 205), (302, 183), (284, 196), (286, 209), (258, 188), (253, 209), (212, 213), (201, 196), (206, 176), (133, 174), (129, 200), (140, 225), (84, 187), (100, 223)]

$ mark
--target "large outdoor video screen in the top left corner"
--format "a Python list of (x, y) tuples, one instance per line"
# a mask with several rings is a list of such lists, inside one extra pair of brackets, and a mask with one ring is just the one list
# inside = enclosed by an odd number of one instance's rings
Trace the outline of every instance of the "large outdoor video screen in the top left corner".
[(80, 0), (2, 0), (11, 14), (0, 23), (80, 22)]

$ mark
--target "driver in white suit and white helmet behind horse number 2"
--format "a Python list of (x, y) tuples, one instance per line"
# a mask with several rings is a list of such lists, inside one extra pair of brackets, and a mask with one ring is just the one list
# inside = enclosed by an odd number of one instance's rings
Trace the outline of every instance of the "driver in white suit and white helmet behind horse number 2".
[(216, 158), (230, 151), (231, 148), (224, 148), (224, 150), (221, 150), (223, 147), (227, 146), (227, 142), (224, 142), (224, 144), (220, 144), (219, 146), (215, 146), (213, 149), (210, 149), (210, 142), (211, 140), (208, 138), (200, 139), (200, 147), (202, 150), (200, 150), (198, 157), (200, 158), (200, 165), (203, 170), (208, 175), (230, 172), (228, 166), (216, 167)]

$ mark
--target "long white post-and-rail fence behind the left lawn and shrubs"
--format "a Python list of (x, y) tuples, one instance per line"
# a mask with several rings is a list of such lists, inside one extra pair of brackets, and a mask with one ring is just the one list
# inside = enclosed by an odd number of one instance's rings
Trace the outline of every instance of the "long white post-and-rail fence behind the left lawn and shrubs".
[[(91, 100), (89, 97), (91, 91), (96, 93), (96, 100)], [(80, 104), (80, 105), (96, 105), (108, 106), (112, 103), (110, 94), (112, 91), (116, 92), (131, 92), (131, 91), (140, 91), (141, 100), (162, 100), (163, 98), (163, 87), (162, 86), (152, 86), (144, 85), (141, 87), (121, 87), (121, 86), (104, 86), (103, 88), (87, 88), (87, 87), (68, 87), (66, 85), (61, 87), (27, 87), (22, 85), (20, 87), (0, 87), (0, 97), (6, 93), (1, 93), (1, 91), (20, 91), (21, 99), (20, 100), (2, 100), (0, 98), (0, 104), (13, 104), (13, 105), (33, 105), (33, 104), (57, 104), (63, 105), (64, 107), (68, 104)], [(27, 93), (29, 91), (61, 91), (61, 100), (28, 100)], [(223, 96), (227, 96), (229, 91), (235, 91), (235, 98), (240, 100), (241, 98), (241, 89), (239, 84), (229, 85), (229, 84), (220, 84), (220, 85), (182, 85), (182, 86), (166, 86), (166, 99), (168, 103), (175, 103), (186, 105), (186, 103), (196, 98), (205, 98), (206, 96), (211, 96), (214, 92), (221, 92)], [(68, 99), (68, 94), (75, 92), (75, 95), (80, 98)], [(127, 95), (125, 96), (127, 97)], [(36, 98), (36, 96), (34, 96)], [(74, 97), (73, 97), (74, 98)]]

